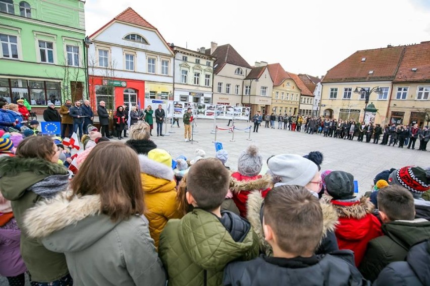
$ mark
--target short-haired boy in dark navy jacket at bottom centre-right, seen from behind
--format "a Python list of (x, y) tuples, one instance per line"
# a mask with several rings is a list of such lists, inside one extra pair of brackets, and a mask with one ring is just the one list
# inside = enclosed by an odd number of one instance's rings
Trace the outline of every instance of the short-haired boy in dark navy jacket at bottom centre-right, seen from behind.
[(233, 262), (224, 285), (364, 285), (350, 250), (315, 255), (323, 232), (318, 199), (301, 186), (281, 185), (267, 193), (262, 211), (264, 239), (273, 257)]

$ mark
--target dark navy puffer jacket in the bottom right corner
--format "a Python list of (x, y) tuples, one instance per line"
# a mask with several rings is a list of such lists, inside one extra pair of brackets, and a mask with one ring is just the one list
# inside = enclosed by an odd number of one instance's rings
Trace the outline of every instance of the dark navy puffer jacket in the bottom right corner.
[(373, 285), (430, 285), (430, 241), (412, 247), (406, 261), (390, 263)]

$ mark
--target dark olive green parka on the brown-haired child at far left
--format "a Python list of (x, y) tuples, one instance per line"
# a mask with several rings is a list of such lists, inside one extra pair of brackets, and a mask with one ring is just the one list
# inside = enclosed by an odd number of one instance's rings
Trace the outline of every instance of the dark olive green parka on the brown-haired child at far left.
[[(59, 164), (41, 159), (8, 157), (0, 159), (0, 190), (11, 201), (15, 219), (23, 228), (24, 213), (42, 199), (27, 189), (52, 175), (67, 175), (69, 172)], [(47, 250), (37, 239), (21, 232), (21, 255), (33, 281), (55, 281), (69, 273), (63, 253)]]

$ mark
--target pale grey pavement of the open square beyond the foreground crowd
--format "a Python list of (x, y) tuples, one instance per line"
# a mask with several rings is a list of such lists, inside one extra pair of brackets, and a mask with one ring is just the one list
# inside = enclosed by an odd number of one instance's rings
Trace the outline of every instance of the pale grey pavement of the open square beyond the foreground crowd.
[[(220, 128), (228, 128), (227, 120), (218, 120), (217, 125)], [(239, 129), (245, 129), (249, 123), (246, 121), (238, 121), (235, 123)], [(211, 130), (214, 127), (213, 120), (198, 119), (197, 126), (194, 129), (193, 142), (184, 141), (184, 128), (180, 122), (180, 128), (171, 128), (168, 125), (169, 136), (156, 136), (156, 130), (152, 133), (155, 144), (158, 148), (169, 151), (173, 158), (179, 155), (185, 155), (187, 159), (195, 157), (195, 150), (202, 149), (206, 152), (206, 157), (215, 156), (215, 148), (213, 144), (214, 134)], [(234, 142), (230, 140), (233, 134), (228, 130), (220, 130), (217, 132), (217, 141), (223, 143), (224, 149), (229, 153), (227, 166), (232, 170), (237, 169), (237, 159), (240, 153), (252, 142), (259, 147), (263, 157), (264, 167), (266, 170), (265, 161), (268, 157), (277, 154), (290, 153), (297, 155), (305, 155), (310, 151), (320, 151), (324, 154), (324, 162), (321, 165), (321, 171), (324, 170), (342, 170), (350, 172), (354, 178), (358, 180), (359, 191), (364, 193), (371, 189), (374, 176), (386, 169), (400, 168), (408, 165), (417, 165), (421, 167), (430, 166), (430, 153), (399, 149), (397, 147), (388, 147), (375, 145), (371, 143), (323, 137), (317, 134), (305, 134), (300, 132), (292, 132), (282, 129), (265, 128), (264, 122), (257, 132), (251, 132), (251, 140), (247, 140), (249, 133), (236, 130), (234, 133)], [(166, 126), (163, 126), (166, 128)], [(125, 141), (125, 139), (121, 140)], [(380, 141), (381, 142), (381, 141)], [(418, 142), (417, 146), (418, 148)], [(4, 277), (0, 277), (0, 286), (8, 285)]]

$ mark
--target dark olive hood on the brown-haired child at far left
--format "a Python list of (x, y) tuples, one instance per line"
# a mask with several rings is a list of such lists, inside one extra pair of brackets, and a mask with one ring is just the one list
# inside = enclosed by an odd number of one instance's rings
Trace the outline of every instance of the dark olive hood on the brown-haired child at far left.
[(0, 158), (0, 189), (11, 201), (18, 200), (27, 188), (48, 176), (67, 174), (64, 166), (42, 159)]

